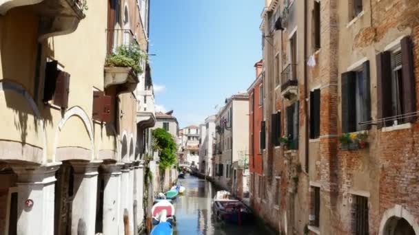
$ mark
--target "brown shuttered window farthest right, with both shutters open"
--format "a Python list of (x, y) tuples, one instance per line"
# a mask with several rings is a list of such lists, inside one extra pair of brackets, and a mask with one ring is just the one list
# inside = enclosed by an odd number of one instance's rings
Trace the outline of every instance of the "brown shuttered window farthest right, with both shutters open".
[(412, 49), (406, 36), (400, 41), (400, 49), (376, 56), (378, 128), (416, 120)]

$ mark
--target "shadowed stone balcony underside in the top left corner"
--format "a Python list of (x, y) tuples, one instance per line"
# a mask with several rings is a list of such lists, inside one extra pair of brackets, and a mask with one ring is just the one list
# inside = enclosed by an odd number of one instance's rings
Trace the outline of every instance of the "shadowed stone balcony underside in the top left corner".
[(39, 15), (39, 41), (74, 32), (87, 8), (85, 0), (0, 0), (0, 14), (24, 5)]

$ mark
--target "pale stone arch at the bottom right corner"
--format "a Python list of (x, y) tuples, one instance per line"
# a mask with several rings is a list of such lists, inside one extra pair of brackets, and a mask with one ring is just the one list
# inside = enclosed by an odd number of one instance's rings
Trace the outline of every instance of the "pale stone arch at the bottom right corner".
[(409, 213), (402, 205), (394, 205), (384, 212), (380, 222), (380, 235), (397, 235), (395, 232), (400, 226), (398, 223), (408, 223), (414, 234), (419, 234), (419, 225), (415, 217)]

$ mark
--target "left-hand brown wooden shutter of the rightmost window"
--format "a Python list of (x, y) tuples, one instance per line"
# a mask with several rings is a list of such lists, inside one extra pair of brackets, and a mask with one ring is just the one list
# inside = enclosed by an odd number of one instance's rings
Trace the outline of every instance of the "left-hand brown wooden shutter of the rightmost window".
[[(377, 109), (378, 119), (391, 117), (391, 53), (382, 52), (376, 56), (377, 63)], [(393, 121), (377, 123), (377, 128), (389, 126)]]

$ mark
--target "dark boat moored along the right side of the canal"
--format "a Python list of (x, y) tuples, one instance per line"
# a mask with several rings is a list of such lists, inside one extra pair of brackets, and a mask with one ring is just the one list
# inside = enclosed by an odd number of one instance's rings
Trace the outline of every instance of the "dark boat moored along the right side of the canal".
[(230, 199), (227, 191), (218, 191), (212, 202), (212, 210), (217, 219), (242, 225), (253, 217), (252, 210), (241, 201)]

